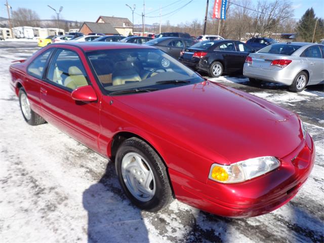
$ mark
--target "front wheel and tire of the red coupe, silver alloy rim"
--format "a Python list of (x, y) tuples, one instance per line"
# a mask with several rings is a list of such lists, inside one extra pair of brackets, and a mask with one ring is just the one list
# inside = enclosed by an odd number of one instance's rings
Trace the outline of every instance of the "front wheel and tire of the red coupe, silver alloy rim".
[[(141, 139), (133, 137), (121, 143), (115, 167), (121, 187), (138, 208), (157, 212), (173, 200), (166, 166), (154, 149)], [(151, 176), (146, 176), (149, 174)], [(145, 184), (149, 186), (145, 188)]]

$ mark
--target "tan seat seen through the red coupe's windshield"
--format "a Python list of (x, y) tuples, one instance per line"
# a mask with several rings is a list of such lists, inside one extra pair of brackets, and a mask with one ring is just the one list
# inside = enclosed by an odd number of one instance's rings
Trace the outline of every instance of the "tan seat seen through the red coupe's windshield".
[(112, 73), (112, 85), (125, 85), (126, 82), (139, 82), (141, 77), (132, 62), (117, 62)]

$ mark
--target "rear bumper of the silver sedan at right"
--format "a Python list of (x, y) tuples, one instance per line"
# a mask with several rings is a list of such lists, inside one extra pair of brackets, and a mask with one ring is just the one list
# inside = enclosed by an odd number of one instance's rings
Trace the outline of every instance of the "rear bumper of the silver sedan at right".
[(292, 70), (289, 70), (287, 67), (274, 67), (273, 69), (264, 69), (253, 67), (248, 63), (244, 64), (243, 75), (284, 85), (291, 85), (295, 78), (295, 74), (293, 74)]

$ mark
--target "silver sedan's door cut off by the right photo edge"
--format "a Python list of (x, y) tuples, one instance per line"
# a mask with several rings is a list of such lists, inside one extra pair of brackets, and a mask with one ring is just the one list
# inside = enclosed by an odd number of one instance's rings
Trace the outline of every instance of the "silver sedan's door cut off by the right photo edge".
[(324, 80), (324, 59), (320, 51), (320, 46), (315, 45), (307, 48), (300, 58), (308, 65), (308, 84), (318, 84)]

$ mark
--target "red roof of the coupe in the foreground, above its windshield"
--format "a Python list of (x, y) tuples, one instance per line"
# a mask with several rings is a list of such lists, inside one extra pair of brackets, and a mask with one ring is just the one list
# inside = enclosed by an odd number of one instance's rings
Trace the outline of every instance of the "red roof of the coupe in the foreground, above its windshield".
[(82, 49), (85, 52), (96, 50), (110, 50), (110, 49), (155, 49), (154, 47), (146, 45), (138, 45), (133, 43), (121, 43), (121, 42), (65, 42), (52, 44), (55, 46), (74, 46)]

